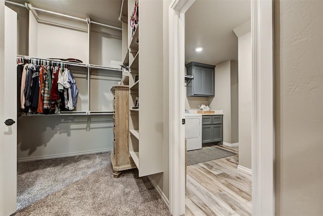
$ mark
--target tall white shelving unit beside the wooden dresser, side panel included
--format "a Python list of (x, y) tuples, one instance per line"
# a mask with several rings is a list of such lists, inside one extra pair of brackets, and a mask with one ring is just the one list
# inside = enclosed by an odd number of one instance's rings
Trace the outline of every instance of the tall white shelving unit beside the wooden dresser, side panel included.
[[(126, 1), (125, 1), (126, 3)], [(137, 1), (138, 3), (138, 1)], [(135, 0), (127, 1), (128, 38), (123, 38), (129, 60), (129, 154), (139, 177), (163, 172), (163, 2), (139, 1), (139, 19), (132, 37), (130, 16)], [(157, 14), (155, 13), (157, 12)], [(157, 23), (156, 23), (157, 22)], [(140, 28), (139, 28), (140, 23)], [(123, 32), (123, 35), (126, 34)], [(138, 43), (139, 41), (139, 43)], [(140, 58), (139, 58), (140, 56)], [(139, 82), (140, 81), (140, 82)], [(139, 97), (140, 109), (133, 109)], [(140, 134), (140, 136), (139, 136)]]

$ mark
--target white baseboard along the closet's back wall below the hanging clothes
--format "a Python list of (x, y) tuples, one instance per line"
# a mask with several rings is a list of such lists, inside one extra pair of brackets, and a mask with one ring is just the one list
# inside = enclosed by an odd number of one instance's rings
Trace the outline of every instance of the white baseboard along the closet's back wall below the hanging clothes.
[(77, 152), (64, 153), (64, 154), (50, 154), (50, 155), (34, 156), (34, 157), (21, 157), (21, 158), (18, 158), (17, 161), (26, 162), (26, 161), (51, 159), (51, 158), (59, 158), (59, 157), (70, 157), (70, 156), (83, 155), (83, 154), (95, 154), (95, 153), (107, 152), (112, 150), (113, 148), (103, 148), (103, 149), (97, 149), (97, 150), (77, 151)]

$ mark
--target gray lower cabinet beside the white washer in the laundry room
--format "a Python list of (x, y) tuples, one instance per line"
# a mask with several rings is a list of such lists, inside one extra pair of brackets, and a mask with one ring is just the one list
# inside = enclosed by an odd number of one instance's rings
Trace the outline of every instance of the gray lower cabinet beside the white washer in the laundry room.
[(223, 116), (202, 116), (202, 143), (223, 141)]

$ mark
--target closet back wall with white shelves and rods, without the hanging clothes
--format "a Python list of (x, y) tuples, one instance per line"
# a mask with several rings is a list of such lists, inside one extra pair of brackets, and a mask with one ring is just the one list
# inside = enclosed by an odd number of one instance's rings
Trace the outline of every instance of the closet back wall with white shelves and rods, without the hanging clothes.
[[(68, 68), (78, 88), (73, 110), (19, 117), (18, 161), (111, 151), (110, 89), (122, 79), (122, 29), (31, 4), (6, 5), (18, 16), (17, 61)], [(62, 61), (70, 58), (81, 63)]]

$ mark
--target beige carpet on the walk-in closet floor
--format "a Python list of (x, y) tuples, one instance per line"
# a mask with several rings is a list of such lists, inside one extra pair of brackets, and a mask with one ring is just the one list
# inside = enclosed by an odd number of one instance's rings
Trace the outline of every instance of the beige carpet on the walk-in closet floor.
[(113, 178), (110, 153), (19, 163), (17, 196), (14, 215), (170, 215), (136, 169)]

